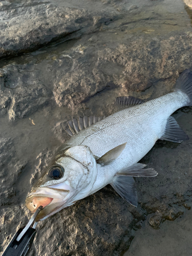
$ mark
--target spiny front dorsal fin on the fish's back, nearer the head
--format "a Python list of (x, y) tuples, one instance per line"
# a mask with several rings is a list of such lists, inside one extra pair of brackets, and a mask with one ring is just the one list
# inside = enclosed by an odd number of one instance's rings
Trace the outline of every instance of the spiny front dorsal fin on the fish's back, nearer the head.
[(67, 121), (68, 127), (64, 130), (69, 136), (73, 136), (74, 134), (78, 134), (80, 131), (102, 120), (103, 118), (104, 116), (83, 116), (78, 117), (77, 119), (72, 117), (72, 121)]

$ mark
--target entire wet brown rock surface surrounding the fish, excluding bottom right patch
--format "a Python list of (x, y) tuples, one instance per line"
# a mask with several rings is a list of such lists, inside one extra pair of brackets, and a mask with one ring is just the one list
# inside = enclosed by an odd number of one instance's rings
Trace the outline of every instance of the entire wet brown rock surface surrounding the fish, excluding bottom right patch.
[[(118, 96), (169, 92), (192, 68), (192, 31), (179, 0), (2, 1), (0, 12), (3, 251), (30, 218), (25, 198), (67, 139), (66, 120), (108, 115)], [(191, 113), (175, 115), (190, 138)], [(136, 179), (138, 208), (107, 186), (40, 222), (30, 255), (122, 255), (147, 215), (158, 229), (191, 207), (191, 152), (191, 139), (158, 142), (141, 160), (159, 175)]]

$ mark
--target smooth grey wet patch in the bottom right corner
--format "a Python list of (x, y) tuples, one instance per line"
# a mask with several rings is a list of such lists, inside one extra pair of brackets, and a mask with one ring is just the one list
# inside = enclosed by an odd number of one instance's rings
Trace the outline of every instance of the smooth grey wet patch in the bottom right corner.
[(191, 212), (185, 212), (174, 222), (164, 222), (160, 229), (144, 223), (135, 233), (135, 238), (124, 256), (147, 255), (186, 255), (190, 256)]

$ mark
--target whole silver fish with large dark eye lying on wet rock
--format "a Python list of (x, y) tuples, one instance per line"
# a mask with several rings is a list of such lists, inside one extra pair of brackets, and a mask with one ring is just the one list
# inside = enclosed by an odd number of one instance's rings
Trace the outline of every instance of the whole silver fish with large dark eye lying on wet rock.
[(70, 138), (60, 146), (32, 188), (26, 206), (40, 221), (86, 198), (105, 185), (133, 206), (138, 205), (134, 177), (155, 177), (139, 161), (157, 140), (180, 143), (189, 139), (171, 116), (192, 105), (192, 72), (184, 70), (175, 88), (159, 98), (118, 97), (107, 117), (78, 117), (68, 122)]

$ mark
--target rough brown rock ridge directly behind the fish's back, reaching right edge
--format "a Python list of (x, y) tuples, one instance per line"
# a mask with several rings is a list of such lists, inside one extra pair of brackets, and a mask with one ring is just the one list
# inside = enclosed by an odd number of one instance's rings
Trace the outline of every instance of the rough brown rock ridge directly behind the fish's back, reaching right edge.
[[(116, 41), (115, 49), (105, 47), (107, 42), (104, 35), (99, 38), (104, 47), (101, 46), (99, 49), (95, 43), (90, 46), (88, 38), (86, 36), (81, 39), (82, 52), (77, 52), (77, 46), (74, 48), (75, 52), (70, 54), (71, 70), (66, 71), (63, 68), (66, 66), (66, 60), (59, 59), (60, 68), (56, 71), (53, 90), (59, 106), (67, 105), (75, 109), (76, 105), (97, 93), (114, 88), (119, 88), (127, 94), (145, 91), (160, 80), (165, 81), (168, 92), (173, 87), (181, 67), (185, 69), (190, 66), (190, 37), (178, 36), (163, 40), (138, 38), (130, 41), (129, 46), (123, 44), (124, 41), (121, 39), (121, 42)], [(95, 38), (92, 36), (91, 39)], [(178, 48), (183, 49), (185, 55), (179, 66), (177, 60), (181, 59), (181, 56), (177, 55)], [(146, 65), (143, 66), (142, 63)]]

